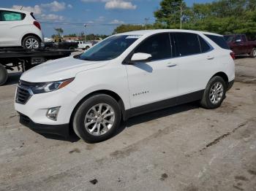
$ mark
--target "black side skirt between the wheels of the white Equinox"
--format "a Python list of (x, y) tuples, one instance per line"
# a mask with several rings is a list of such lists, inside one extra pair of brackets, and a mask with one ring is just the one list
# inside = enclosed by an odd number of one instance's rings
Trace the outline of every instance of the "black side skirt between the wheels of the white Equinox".
[(148, 112), (154, 112), (159, 109), (165, 109), (170, 106), (177, 106), (181, 104), (186, 104), (192, 101), (201, 100), (203, 98), (204, 90), (199, 90), (193, 93), (188, 93), (185, 95), (180, 95), (175, 98), (166, 99), (163, 101), (157, 101), (152, 104), (146, 104), (143, 106), (137, 106), (131, 109), (127, 109), (124, 111), (123, 118), (124, 120), (129, 119), (129, 117), (134, 117), (139, 114), (145, 114)]

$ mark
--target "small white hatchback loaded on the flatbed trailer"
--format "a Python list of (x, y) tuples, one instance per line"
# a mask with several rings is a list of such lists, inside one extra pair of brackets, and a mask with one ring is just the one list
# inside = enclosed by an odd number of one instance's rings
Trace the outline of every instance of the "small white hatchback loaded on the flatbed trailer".
[(38, 49), (42, 44), (41, 26), (32, 12), (0, 8), (0, 47)]

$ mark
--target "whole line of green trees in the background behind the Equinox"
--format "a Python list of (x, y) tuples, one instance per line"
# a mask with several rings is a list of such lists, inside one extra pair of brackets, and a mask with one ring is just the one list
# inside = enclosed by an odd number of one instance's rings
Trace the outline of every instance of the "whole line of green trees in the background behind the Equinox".
[[(218, 34), (246, 34), (256, 38), (256, 0), (219, 0), (187, 7), (184, 0), (162, 0), (154, 12), (156, 23), (152, 28), (182, 28), (211, 31)], [(121, 25), (114, 34), (144, 30), (142, 25)]]

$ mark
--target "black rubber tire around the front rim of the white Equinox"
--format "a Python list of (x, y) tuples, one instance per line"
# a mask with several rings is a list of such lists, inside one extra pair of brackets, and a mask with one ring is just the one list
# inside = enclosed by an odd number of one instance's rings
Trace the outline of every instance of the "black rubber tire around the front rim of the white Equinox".
[[(108, 104), (112, 107), (113, 112), (115, 114), (112, 127), (102, 135), (92, 135), (91, 133), (89, 133), (88, 130), (86, 130), (85, 125), (86, 114), (90, 111), (90, 109), (93, 106), (97, 104)], [(76, 135), (79, 136), (80, 139), (83, 139), (83, 141), (86, 141), (88, 143), (96, 143), (110, 139), (110, 137), (113, 136), (115, 131), (118, 129), (120, 121), (121, 109), (117, 101), (110, 95), (97, 94), (92, 95), (90, 98), (87, 98), (86, 101), (83, 101), (82, 104), (80, 104), (73, 117), (72, 127)]]

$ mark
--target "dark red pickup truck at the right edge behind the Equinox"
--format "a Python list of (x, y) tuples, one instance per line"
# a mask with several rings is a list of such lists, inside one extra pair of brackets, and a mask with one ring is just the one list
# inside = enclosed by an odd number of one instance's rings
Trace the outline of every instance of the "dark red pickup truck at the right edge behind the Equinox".
[(244, 34), (225, 35), (224, 38), (235, 55), (249, 54), (256, 58), (256, 41), (249, 41)]

